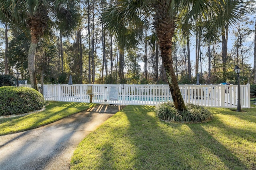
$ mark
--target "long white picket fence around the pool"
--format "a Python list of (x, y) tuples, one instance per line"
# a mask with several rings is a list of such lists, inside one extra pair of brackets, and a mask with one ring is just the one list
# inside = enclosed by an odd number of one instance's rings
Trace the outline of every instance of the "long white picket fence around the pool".
[[(88, 86), (92, 87), (92, 95), (87, 94)], [(179, 88), (185, 103), (237, 107), (237, 85), (184, 84)], [(116, 97), (113, 98), (113, 94)], [(45, 84), (43, 95), (48, 101), (90, 102), (92, 97), (93, 103), (117, 105), (157, 105), (172, 101), (170, 88), (166, 84)], [(250, 84), (240, 85), (240, 99), (242, 108), (250, 108)]]

